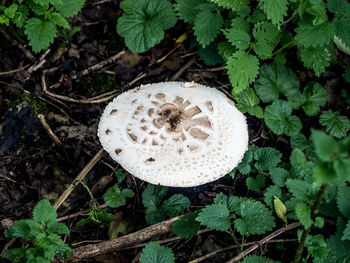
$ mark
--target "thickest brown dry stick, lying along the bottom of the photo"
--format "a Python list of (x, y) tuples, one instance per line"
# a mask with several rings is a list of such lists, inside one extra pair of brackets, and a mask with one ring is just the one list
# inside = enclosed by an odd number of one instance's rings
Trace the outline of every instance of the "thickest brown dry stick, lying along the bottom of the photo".
[(171, 223), (180, 219), (182, 216), (177, 216), (158, 224), (146, 227), (134, 233), (118, 237), (112, 240), (104, 241), (95, 245), (86, 245), (75, 248), (71, 252), (71, 256), (67, 261), (81, 261), (82, 259), (92, 258), (101, 254), (113, 252), (118, 249), (133, 246), (137, 243), (144, 242), (156, 236), (165, 234), (170, 231)]

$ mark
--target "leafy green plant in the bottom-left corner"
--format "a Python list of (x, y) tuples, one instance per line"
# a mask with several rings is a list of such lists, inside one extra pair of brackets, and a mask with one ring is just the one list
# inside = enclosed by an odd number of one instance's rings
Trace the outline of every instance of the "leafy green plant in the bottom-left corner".
[(52, 262), (56, 255), (68, 258), (71, 249), (58, 234), (69, 232), (65, 224), (57, 222), (49, 201), (41, 200), (34, 207), (33, 219), (17, 220), (5, 232), (7, 238), (23, 238), (30, 247), (12, 248), (4, 257), (12, 262)]

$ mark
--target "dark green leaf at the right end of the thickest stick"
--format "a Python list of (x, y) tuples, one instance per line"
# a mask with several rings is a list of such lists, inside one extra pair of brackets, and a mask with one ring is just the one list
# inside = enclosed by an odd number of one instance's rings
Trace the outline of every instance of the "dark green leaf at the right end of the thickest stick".
[(171, 224), (171, 228), (175, 235), (181, 238), (192, 238), (200, 229), (200, 223), (196, 221), (199, 211), (185, 215)]

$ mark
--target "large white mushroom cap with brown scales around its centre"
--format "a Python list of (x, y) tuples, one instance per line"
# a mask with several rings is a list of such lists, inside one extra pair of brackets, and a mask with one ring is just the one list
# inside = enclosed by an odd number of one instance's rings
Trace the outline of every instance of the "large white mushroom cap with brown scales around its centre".
[(190, 187), (224, 176), (248, 149), (245, 116), (195, 83), (142, 85), (104, 110), (98, 136), (125, 170), (152, 184)]

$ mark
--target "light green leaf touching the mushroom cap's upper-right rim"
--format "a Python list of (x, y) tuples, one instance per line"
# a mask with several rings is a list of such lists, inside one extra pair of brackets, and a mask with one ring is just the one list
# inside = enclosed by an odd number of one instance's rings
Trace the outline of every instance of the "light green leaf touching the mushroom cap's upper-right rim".
[(258, 118), (264, 117), (264, 110), (259, 106), (260, 100), (256, 96), (254, 89), (246, 88), (242, 92), (235, 95), (237, 101), (236, 107), (242, 112), (248, 112), (250, 115)]

